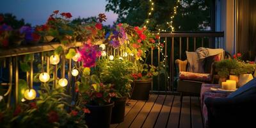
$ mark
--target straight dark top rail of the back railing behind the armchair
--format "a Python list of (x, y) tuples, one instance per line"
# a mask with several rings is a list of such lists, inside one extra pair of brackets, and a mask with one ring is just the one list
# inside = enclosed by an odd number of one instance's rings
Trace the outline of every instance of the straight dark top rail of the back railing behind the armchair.
[[(154, 32), (156, 34), (156, 32)], [(160, 33), (161, 37), (224, 37), (224, 31), (174, 31)]]

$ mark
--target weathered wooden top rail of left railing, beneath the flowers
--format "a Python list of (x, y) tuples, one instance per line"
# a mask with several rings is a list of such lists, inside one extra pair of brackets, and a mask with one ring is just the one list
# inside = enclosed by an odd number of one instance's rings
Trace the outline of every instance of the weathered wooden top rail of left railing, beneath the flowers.
[(71, 47), (80, 47), (81, 45), (82, 45), (81, 42), (76, 42), (68, 45), (63, 45), (63, 44), (60, 44), (59, 42), (51, 42), (51, 43), (36, 44), (36, 45), (24, 45), (20, 47), (13, 47), (10, 49), (1, 49), (0, 58), (20, 56), (24, 54), (32, 54), (37, 52), (54, 51), (54, 49), (56, 49), (59, 46), (62, 46), (63, 49), (69, 49)]

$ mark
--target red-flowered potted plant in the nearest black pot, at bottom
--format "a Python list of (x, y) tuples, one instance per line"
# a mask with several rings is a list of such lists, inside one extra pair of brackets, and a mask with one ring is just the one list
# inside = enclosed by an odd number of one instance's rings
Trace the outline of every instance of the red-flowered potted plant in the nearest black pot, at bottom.
[[(116, 93), (111, 84), (100, 83), (99, 77), (90, 75), (90, 68), (83, 68), (81, 83), (76, 83), (79, 102), (90, 110), (85, 120), (88, 127), (109, 127)], [(100, 121), (100, 122), (99, 122)]]

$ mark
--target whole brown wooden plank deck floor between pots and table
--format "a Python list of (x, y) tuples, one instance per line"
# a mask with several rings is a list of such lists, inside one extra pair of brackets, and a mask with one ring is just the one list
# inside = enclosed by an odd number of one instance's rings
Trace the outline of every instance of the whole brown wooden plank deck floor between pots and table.
[(147, 101), (129, 100), (125, 119), (114, 127), (203, 127), (198, 97), (150, 95)]

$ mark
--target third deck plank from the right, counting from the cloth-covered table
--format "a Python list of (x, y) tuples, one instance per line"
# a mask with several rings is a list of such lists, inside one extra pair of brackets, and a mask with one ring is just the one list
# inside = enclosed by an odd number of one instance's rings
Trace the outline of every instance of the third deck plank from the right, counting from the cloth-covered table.
[(172, 109), (170, 112), (169, 120), (167, 127), (179, 127), (179, 118), (180, 118), (180, 96), (176, 96), (173, 99)]

